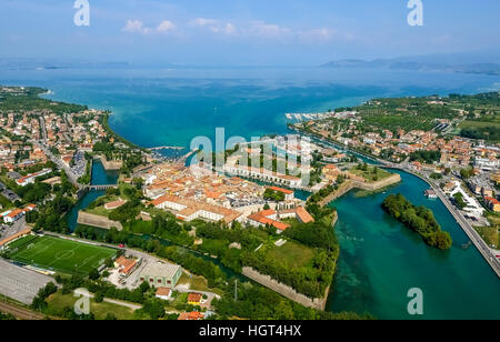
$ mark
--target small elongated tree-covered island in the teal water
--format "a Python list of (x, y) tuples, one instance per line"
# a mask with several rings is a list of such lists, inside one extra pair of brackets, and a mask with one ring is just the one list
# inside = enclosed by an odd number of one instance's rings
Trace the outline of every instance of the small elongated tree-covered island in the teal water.
[(450, 234), (441, 230), (430, 209), (413, 205), (400, 193), (388, 195), (382, 208), (392, 218), (422, 237), (428, 245), (440, 250), (451, 248)]

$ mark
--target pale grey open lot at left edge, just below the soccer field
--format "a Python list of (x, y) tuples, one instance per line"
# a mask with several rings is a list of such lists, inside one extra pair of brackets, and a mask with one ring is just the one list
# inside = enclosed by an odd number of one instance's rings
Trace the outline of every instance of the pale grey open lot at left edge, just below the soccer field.
[(38, 291), (50, 281), (50, 276), (0, 260), (0, 293), (21, 303), (31, 304)]

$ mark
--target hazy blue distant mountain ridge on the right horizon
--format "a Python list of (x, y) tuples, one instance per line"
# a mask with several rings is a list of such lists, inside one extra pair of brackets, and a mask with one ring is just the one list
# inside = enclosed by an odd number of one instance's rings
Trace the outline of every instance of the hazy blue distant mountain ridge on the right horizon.
[(460, 62), (460, 58), (449, 56), (404, 57), (396, 59), (376, 59), (366, 61), (346, 59), (328, 62), (322, 68), (353, 68), (353, 69), (389, 69), (414, 71), (444, 71), (462, 73), (481, 73), (500, 76), (500, 63), (493, 62)]

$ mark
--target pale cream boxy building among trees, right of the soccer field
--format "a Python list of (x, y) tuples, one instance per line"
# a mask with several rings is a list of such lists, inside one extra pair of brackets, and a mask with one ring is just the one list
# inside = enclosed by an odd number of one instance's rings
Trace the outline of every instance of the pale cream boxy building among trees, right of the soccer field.
[(182, 275), (180, 265), (171, 263), (149, 262), (141, 271), (139, 279), (154, 288), (173, 288)]

